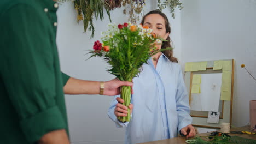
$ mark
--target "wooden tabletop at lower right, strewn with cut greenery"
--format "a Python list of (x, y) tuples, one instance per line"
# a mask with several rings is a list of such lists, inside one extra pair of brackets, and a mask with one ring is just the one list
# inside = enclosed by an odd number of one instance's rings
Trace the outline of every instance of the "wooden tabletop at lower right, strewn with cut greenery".
[[(249, 130), (249, 126), (232, 128), (230, 131), (241, 131), (241, 130), (251, 131), (253, 133), (256, 132), (256, 131)], [(209, 135), (210, 135), (210, 133), (197, 134), (197, 136), (209, 136)], [(256, 135), (231, 134), (231, 133), (229, 133), (229, 135), (230, 136), (240, 136), (240, 137), (243, 137), (243, 138), (256, 140)], [(186, 140), (187, 139), (185, 137), (174, 137), (172, 139), (152, 141), (152, 142), (139, 143), (139, 144), (184, 144)], [(205, 139), (205, 140), (207, 140), (207, 139)]]

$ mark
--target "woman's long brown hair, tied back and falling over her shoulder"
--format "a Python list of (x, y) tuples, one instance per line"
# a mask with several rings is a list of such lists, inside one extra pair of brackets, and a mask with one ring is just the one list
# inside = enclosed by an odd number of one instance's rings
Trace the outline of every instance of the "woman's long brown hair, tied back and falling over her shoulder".
[[(165, 19), (165, 29), (166, 29), (166, 33), (168, 33), (168, 32), (169, 32), (169, 34), (171, 33), (170, 23), (169, 23), (169, 21), (168, 21), (166, 15), (165, 15), (164, 13), (162, 13), (161, 11), (159, 11), (159, 10), (152, 10), (152, 11), (149, 11), (149, 13), (147, 13), (146, 15), (144, 15), (144, 16), (143, 16), (143, 19), (142, 19), (142, 21), (141, 21), (141, 25), (143, 25), (143, 23), (144, 23), (144, 21), (145, 21), (145, 18), (146, 18), (148, 15), (150, 15), (150, 14), (159, 14), (159, 15), (161, 15), (161, 16)], [(163, 48), (163, 49), (168, 48), (168, 47), (173, 48), (172, 45), (171, 45), (172, 40), (171, 40), (171, 38), (169, 37), (169, 35), (168, 35), (168, 37), (167, 37), (166, 40), (168, 40), (168, 41), (162, 41), (162, 46), (161, 46), (161, 48)], [(164, 53), (164, 55), (165, 55), (166, 57), (168, 57), (168, 59), (169, 59), (170, 61), (178, 63), (178, 59), (177, 59), (176, 57), (173, 57), (173, 50), (172, 50), (172, 49), (171, 49), (171, 50), (163, 51), (162, 53)]]

